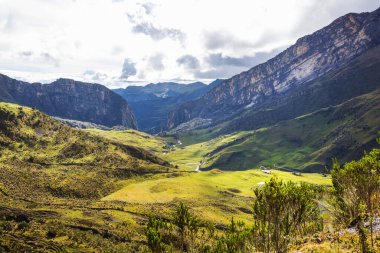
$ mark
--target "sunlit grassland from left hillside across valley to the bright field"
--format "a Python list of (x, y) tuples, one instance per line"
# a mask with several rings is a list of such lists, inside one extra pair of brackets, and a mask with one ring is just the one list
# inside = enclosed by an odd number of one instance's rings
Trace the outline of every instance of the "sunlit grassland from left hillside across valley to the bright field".
[[(226, 224), (231, 217), (250, 223), (252, 188), (273, 176), (254, 169), (192, 172), (202, 159), (204, 166), (212, 164), (211, 155), (204, 158), (207, 154), (244, 143), (252, 132), (177, 145), (164, 154), (173, 138), (130, 130), (78, 131), (19, 108), (0, 104), (0, 216), (7, 217), (0, 219), (0, 245), (6, 251), (139, 251), (148, 214), (170, 219), (179, 201), (215, 224)], [(178, 165), (177, 172), (160, 165), (165, 162), (159, 157)], [(139, 171), (140, 176), (131, 177)], [(331, 183), (320, 174), (274, 174), (284, 180)], [(27, 222), (21, 229), (22, 217)]]

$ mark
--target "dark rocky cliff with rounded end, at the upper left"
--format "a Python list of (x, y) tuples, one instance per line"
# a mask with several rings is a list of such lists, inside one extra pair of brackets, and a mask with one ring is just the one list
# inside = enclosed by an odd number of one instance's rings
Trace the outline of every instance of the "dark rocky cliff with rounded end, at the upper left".
[(0, 101), (36, 107), (60, 118), (137, 128), (128, 103), (100, 84), (70, 79), (31, 84), (0, 75)]

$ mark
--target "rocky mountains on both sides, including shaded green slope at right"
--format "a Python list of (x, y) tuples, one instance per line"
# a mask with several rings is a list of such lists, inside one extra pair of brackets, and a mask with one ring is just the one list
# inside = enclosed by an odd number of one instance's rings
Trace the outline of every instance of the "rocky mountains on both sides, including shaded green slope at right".
[[(0, 101), (35, 107), (77, 128), (138, 125), (179, 143), (248, 131), (203, 157), (207, 168), (276, 163), (320, 171), (333, 157), (349, 161), (356, 158), (353, 150), (373, 147), (380, 130), (379, 69), (377, 9), (342, 16), (267, 62), (209, 85), (166, 82), (109, 90), (69, 79), (31, 84), (0, 75)], [(292, 128), (300, 127), (300, 119), (303, 135), (296, 138)], [(322, 133), (329, 140), (319, 141)]]

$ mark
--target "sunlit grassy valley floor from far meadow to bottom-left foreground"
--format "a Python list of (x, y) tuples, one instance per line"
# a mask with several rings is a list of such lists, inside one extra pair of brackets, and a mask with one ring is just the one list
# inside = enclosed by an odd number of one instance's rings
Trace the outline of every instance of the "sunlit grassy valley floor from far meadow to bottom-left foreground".
[[(112, 190), (100, 192), (100, 197), (90, 199), (16, 196), (0, 184), (0, 216), (5, 218), (0, 222), (0, 252), (144, 252), (147, 250), (144, 229), (149, 215), (171, 220), (173, 210), (181, 202), (203, 220), (223, 230), (232, 217), (247, 225), (253, 223), (253, 190), (273, 177), (331, 186), (331, 177), (321, 173), (289, 172), (270, 167), (241, 171), (202, 170), (212, 164), (212, 151), (250, 137), (252, 132), (197, 143), (189, 142), (191, 139), (186, 139), (187, 136), (162, 138), (135, 130), (85, 132), (105, 138), (115, 146), (143, 146), (175, 167), (112, 180)], [(50, 166), (47, 171), (54, 172), (56, 167)], [(59, 174), (52, 175), (59, 177)], [(91, 185), (85, 189), (99, 191)], [(350, 243), (337, 246), (336, 240), (331, 239), (333, 235), (327, 231), (320, 235), (322, 244), (315, 238), (308, 238), (305, 239), (307, 244), (295, 245), (293, 251), (353, 249)], [(341, 240), (349, 242), (352, 238), (352, 235), (345, 235)]]

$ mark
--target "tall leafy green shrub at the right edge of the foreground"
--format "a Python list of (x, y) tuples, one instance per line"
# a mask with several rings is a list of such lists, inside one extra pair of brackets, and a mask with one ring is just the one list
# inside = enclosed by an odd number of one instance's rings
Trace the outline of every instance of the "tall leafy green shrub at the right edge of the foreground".
[[(331, 172), (336, 220), (343, 226), (356, 225), (362, 252), (374, 249), (373, 220), (380, 215), (380, 149), (365, 154), (341, 168), (335, 161)], [(364, 221), (369, 221), (370, 245)]]

